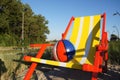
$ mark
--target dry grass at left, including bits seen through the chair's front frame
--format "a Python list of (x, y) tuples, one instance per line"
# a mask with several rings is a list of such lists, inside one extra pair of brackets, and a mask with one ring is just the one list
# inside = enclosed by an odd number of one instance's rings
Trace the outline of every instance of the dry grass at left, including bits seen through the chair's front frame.
[[(28, 63), (24, 62), (23, 56), (30, 55), (35, 56), (39, 49), (25, 49), (23, 54), (21, 49), (14, 49), (13, 47), (0, 47), (0, 77), (1, 80), (21, 80), (23, 76), (21, 75), (28, 67)], [(45, 51), (45, 54), (42, 56), (44, 59), (51, 59), (51, 48), (48, 48)], [(20, 76), (20, 77), (19, 77)], [(34, 77), (34, 76), (33, 76)]]

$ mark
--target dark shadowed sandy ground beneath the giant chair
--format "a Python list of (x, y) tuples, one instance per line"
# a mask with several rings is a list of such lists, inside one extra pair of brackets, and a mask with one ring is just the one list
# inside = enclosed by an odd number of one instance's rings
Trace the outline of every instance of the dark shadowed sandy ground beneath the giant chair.
[[(62, 67), (38, 67), (38, 80), (91, 80), (91, 73)], [(107, 73), (100, 73), (98, 80), (120, 80), (120, 65), (109, 66)]]

